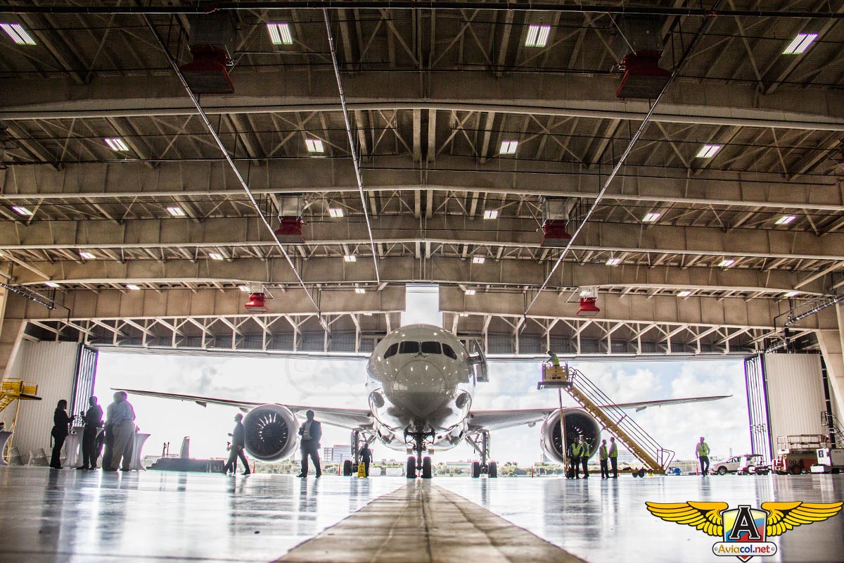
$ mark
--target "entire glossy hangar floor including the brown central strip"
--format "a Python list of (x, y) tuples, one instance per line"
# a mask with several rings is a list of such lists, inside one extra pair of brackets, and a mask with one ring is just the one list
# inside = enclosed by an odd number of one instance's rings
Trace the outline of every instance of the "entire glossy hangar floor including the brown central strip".
[[(354, 542), (367, 530), (372, 531), (372, 549), (398, 546), (393, 555), (402, 553), (409, 562), (454, 560), (453, 551), (436, 548), (455, 539), (457, 547), (473, 546), (484, 554), (462, 557), (466, 560), (529, 561), (533, 549), (549, 549), (483, 506), (590, 563), (714, 561), (722, 560), (711, 555), (714, 538), (651, 516), (645, 501), (725, 501), (733, 507), (844, 499), (844, 475), (627, 476), (588, 482), (441, 478), (401, 489), (404, 485), (406, 479), (387, 477), (303, 481), (262, 474), (230, 478), (0, 468), (0, 561), (271, 561), (379, 497), (365, 511), (290, 551), (289, 560), (306, 554), (305, 549), (311, 555), (298, 560), (344, 560), (352, 552), (354, 560), (379, 560), (367, 559), (363, 544)], [(410, 541), (417, 533), (414, 519), (424, 523), (418, 527), (427, 538), (420, 538), (424, 549)], [(842, 561), (844, 514), (773, 541), (779, 554), (768, 561)], [(508, 549), (517, 543), (530, 551), (517, 551), (523, 555), (512, 558)], [(334, 554), (338, 546), (341, 553)], [(320, 551), (331, 556), (313, 556)], [(571, 560), (562, 550), (551, 553), (542, 559)]]

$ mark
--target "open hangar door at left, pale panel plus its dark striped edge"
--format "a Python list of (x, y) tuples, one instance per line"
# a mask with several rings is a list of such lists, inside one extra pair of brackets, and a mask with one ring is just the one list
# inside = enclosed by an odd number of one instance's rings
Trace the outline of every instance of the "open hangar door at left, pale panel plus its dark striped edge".
[[(9, 362), (6, 378), (22, 379), (38, 385), (41, 401), (23, 401), (19, 406), (14, 435), (9, 447), (16, 447), (23, 463), (30, 452), (43, 448), (50, 455), (53, 411), (62, 398), (68, 401), (68, 414), (84, 414), (94, 390), (97, 351), (76, 342), (45, 342), (20, 339)], [(8, 406), (6, 424), (18, 405)], [(81, 422), (78, 418), (74, 424)]]

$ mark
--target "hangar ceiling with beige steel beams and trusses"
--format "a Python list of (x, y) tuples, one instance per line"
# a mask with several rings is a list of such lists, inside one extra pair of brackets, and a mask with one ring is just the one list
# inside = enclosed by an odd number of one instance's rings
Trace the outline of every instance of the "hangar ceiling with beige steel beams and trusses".
[[(177, 318), (229, 319), (185, 338), (230, 333), (259, 283), (294, 344), (330, 322), (358, 350), (397, 326), (396, 290), (427, 282), (447, 328), (515, 334), (508, 353), (764, 348), (777, 315), (844, 285), (844, 2), (685, 4), (644, 9), (675, 74), (649, 115), (616, 95), (629, 3), (216, 3), (236, 22), (234, 93), (197, 99), (248, 193), (171, 67), (191, 60), (197, 3), (16, 6), (0, 19), (35, 45), (0, 35), (0, 260), (9, 287), (60, 306), (10, 293), (7, 324), (116, 344), (103, 319), (130, 318), (127, 342), (175, 347)], [(814, 41), (782, 54), (798, 34)], [(565, 251), (541, 245), (549, 198), (571, 232), (588, 218)], [(304, 220), (303, 244), (273, 240), (261, 219), (279, 215)], [(592, 285), (587, 321), (571, 295)]]

